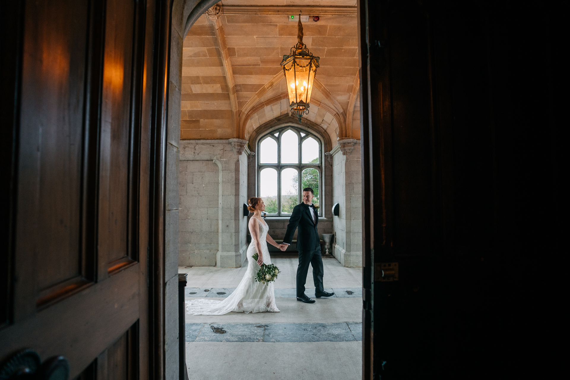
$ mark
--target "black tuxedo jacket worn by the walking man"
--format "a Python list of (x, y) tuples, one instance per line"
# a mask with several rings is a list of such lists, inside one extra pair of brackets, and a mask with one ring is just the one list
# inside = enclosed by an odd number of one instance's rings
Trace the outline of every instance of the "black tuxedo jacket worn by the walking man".
[(283, 243), (291, 244), (295, 230), (297, 226), (299, 226), (299, 232), (297, 234), (297, 249), (299, 251), (311, 251), (319, 247), (320, 244), (319, 230), (317, 229), (319, 216), (317, 210), (314, 210), (315, 215), (317, 215), (317, 222), (314, 223), (309, 207), (310, 206), (304, 203), (294, 207), (291, 218), (289, 218), (287, 232), (283, 238)]

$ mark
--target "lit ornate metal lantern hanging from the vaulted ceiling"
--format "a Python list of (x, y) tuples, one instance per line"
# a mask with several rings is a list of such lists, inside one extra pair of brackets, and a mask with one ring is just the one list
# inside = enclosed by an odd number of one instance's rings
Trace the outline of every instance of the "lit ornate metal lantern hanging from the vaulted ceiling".
[(290, 55), (283, 56), (281, 66), (283, 66), (283, 73), (287, 81), (291, 115), (297, 116), (301, 122), (301, 116), (309, 113), (309, 102), (311, 101), (315, 73), (319, 67), (319, 57), (313, 56), (307, 45), (303, 43), (303, 24), (300, 14), (297, 27), (298, 43), (291, 48)]

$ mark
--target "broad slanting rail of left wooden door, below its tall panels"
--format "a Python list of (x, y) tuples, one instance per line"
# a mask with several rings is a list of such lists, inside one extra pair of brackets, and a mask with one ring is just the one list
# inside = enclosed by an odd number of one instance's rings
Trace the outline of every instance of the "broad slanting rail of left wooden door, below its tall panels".
[(28, 347), (42, 358), (63, 355), (70, 378), (78, 376), (139, 319), (139, 272), (132, 265), (2, 330), (2, 353)]

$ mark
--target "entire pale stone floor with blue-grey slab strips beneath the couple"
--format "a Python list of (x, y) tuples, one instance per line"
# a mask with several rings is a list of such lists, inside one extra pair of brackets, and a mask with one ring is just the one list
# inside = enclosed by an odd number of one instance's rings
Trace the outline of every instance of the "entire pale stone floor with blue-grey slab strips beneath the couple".
[[(298, 259), (272, 259), (279, 313), (186, 315), (186, 365), (190, 380), (360, 379), (361, 268), (323, 258), (324, 286), (335, 296), (304, 304), (295, 297)], [(178, 268), (188, 273), (186, 300), (227, 297), (246, 268)], [(314, 296), (312, 269), (307, 295)], [(223, 333), (221, 333), (223, 332)]]

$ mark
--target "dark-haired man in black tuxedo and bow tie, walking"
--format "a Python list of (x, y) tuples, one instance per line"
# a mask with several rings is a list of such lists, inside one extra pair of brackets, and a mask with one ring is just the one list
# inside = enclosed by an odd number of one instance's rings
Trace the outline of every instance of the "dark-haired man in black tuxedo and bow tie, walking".
[(305, 283), (307, 282), (307, 272), (309, 264), (313, 267), (313, 280), (315, 281), (315, 296), (330, 297), (335, 293), (327, 293), (323, 288), (323, 258), (320, 251), (319, 230), (319, 216), (312, 205), (313, 189), (305, 187), (303, 189), (303, 203), (295, 206), (285, 238), (283, 238), (284, 251), (290, 246), (293, 235), (297, 226), (299, 226), (299, 233), (297, 234), (297, 249), (299, 250), (299, 267), (297, 268), (297, 301), (307, 304), (315, 303), (305, 294)]

